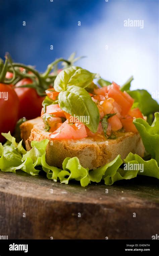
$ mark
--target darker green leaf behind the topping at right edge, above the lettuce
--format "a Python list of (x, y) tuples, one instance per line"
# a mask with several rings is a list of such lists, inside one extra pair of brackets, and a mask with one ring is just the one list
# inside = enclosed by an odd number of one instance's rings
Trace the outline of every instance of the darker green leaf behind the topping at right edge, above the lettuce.
[(146, 90), (127, 91), (127, 93), (138, 102), (138, 107), (144, 116), (159, 111), (159, 105), (156, 100), (151, 97), (151, 94)]

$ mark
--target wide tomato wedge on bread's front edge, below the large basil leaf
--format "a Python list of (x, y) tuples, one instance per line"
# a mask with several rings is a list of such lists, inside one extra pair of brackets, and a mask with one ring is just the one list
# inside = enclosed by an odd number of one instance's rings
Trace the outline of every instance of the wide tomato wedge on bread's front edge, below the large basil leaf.
[(83, 123), (68, 124), (66, 120), (56, 131), (51, 133), (52, 139), (83, 139), (86, 138), (87, 132)]

